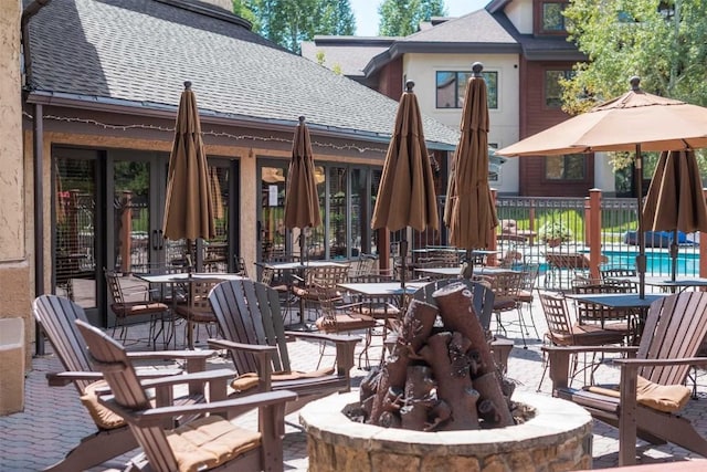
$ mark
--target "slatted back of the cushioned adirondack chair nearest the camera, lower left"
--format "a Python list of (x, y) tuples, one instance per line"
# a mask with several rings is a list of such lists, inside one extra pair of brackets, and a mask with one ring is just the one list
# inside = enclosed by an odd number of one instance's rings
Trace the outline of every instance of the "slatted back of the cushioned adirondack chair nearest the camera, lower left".
[[(76, 324), (86, 339), (91, 358), (101, 366), (99, 368), (106, 381), (110, 385), (116, 402), (125, 408), (126, 411), (150, 408), (149, 399), (140, 385), (133, 364), (128, 360), (125, 348), (110, 336), (87, 323), (80, 321)], [(179, 470), (177, 459), (171, 453), (167, 441), (163, 423), (159, 419), (154, 421), (155, 424), (151, 427), (141, 426), (135, 428), (130, 424), (130, 430), (143, 445), (151, 470)]]

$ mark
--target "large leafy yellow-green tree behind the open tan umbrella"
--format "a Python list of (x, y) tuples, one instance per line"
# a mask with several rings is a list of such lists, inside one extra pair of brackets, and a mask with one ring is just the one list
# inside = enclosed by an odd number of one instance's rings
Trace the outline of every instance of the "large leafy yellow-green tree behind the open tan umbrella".
[[(589, 61), (561, 81), (562, 108), (589, 109), (630, 88), (707, 105), (707, 2), (703, 0), (573, 0), (564, 10), (569, 40)], [(615, 153), (614, 167), (632, 155)]]

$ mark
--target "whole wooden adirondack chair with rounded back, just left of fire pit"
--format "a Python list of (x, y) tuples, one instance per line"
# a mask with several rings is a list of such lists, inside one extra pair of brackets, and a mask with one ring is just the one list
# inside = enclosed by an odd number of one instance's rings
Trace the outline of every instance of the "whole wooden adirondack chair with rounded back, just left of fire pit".
[[(314, 399), (350, 390), (359, 337), (285, 332), (277, 292), (249, 279), (221, 282), (211, 291), (209, 301), (224, 337), (209, 339), (209, 346), (229, 349), (240, 375), (232, 385), (236, 391), (295, 391), (297, 401), (287, 405), (287, 412), (292, 412)], [(287, 340), (296, 338), (334, 343), (336, 369), (293, 370)]]

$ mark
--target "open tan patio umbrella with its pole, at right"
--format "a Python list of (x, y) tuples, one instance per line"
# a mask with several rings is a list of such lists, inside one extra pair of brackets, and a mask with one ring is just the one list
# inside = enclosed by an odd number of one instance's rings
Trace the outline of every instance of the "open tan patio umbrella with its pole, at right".
[[(642, 151), (707, 146), (707, 108), (632, 90), (536, 135), (496, 151), (500, 156), (549, 156), (594, 151), (635, 151), (639, 209), (642, 208)], [(641, 213), (641, 211), (639, 211)], [(639, 218), (639, 294), (645, 294), (645, 233)]]

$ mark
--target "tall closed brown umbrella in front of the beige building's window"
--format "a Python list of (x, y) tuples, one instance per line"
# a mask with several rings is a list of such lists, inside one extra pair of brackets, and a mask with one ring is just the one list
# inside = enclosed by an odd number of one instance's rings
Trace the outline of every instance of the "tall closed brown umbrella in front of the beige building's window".
[(460, 143), (452, 161), (444, 208), (450, 242), (471, 250), (488, 248), (492, 230), (498, 224), (488, 187), (488, 102), (484, 65), (475, 62), (466, 84)]

